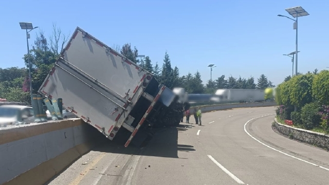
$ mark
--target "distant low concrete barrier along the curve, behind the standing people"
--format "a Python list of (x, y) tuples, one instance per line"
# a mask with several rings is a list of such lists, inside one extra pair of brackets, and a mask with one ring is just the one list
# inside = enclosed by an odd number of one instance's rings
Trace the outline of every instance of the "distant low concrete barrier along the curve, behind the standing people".
[[(222, 105), (204, 105), (196, 106), (200, 107), (202, 113), (211, 112), (214, 110), (225, 110), (231, 108), (246, 108), (246, 107), (265, 107), (265, 106), (276, 106), (276, 102), (260, 102), (260, 103), (232, 103), (232, 104), (222, 104)], [(190, 113), (194, 113), (194, 107), (190, 108)]]

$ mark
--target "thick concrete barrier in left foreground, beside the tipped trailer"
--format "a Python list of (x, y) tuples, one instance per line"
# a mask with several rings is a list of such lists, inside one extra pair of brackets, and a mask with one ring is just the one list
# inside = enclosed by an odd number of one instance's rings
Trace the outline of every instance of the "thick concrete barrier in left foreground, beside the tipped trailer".
[(99, 132), (81, 119), (0, 130), (0, 184), (44, 184), (97, 145)]

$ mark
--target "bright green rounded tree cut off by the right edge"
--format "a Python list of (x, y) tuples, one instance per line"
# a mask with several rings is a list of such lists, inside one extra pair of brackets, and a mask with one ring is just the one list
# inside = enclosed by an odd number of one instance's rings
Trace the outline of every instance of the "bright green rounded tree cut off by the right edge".
[(313, 98), (321, 104), (329, 105), (329, 71), (322, 70), (315, 75), (312, 84)]

